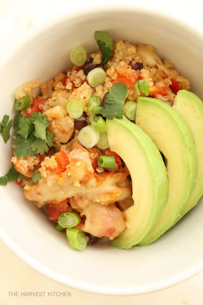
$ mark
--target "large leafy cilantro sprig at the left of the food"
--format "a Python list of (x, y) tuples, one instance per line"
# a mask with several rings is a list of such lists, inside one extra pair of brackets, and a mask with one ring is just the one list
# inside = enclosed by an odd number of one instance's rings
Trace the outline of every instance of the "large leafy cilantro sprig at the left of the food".
[(53, 146), (54, 135), (46, 130), (49, 125), (46, 114), (43, 116), (41, 112), (34, 112), (29, 119), (24, 118), (22, 114), (17, 114), (13, 125), (14, 154), (17, 157), (43, 155), (48, 152), (49, 147)]

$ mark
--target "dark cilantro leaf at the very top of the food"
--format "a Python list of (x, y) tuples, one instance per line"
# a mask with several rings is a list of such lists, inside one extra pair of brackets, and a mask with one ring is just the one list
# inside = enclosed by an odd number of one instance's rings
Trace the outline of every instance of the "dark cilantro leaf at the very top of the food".
[(94, 38), (102, 53), (102, 67), (106, 67), (113, 54), (113, 41), (107, 32), (95, 31)]

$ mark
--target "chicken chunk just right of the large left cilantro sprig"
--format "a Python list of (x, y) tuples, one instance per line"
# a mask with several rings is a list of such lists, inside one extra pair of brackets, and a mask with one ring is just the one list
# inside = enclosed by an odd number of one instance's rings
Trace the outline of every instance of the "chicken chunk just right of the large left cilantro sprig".
[(54, 134), (55, 141), (67, 143), (74, 131), (74, 119), (67, 115), (64, 106), (58, 105), (44, 112), (50, 121), (47, 130)]

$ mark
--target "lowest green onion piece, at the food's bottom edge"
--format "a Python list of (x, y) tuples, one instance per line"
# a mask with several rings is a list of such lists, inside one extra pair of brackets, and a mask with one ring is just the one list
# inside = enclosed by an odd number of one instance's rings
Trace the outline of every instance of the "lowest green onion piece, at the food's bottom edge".
[(66, 236), (73, 249), (84, 250), (87, 246), (87, 237), (85, 233), (78, 229), (67, 229)]

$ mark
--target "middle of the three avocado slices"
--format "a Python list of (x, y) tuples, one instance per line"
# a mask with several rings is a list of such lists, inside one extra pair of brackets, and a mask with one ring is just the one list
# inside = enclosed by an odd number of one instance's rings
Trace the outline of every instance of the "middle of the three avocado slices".
[(164, 234), (180, 216), (197, 175), (195, 143), (185, 119), (168, 104), (139, 97), (136, 124), (150, 136), (166, 158), (168, 199), (159, 220), (139, 242), (146, 246)]

